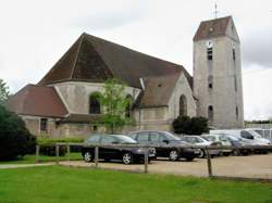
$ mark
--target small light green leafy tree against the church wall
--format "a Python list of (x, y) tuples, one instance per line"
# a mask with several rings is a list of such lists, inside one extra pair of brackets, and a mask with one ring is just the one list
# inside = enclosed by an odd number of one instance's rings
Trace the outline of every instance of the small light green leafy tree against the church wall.
[(125, 83), (115, 78), (108, 79), (99, 96), (103, 114), (99, 122), (106, 125), (111, 134), (114, 134), (118, 127), (132, 123), (132, 119), (125, 116), (127, 106), (132, 103), (131, 99), (125, 96)]

